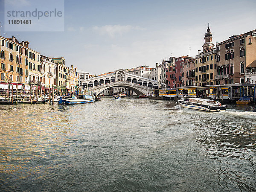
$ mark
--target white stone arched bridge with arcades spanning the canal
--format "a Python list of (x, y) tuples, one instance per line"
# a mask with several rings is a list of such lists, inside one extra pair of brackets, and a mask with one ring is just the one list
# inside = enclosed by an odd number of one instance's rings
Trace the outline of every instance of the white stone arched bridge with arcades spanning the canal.
[(82, 88), (85, 91), (90, 90), (97, 94), (112, 87), (125, 87), (138, 95), (150, 93), (152, 89), (158, 88), (158, 81), (127, 73), (123, 69), (86, 79), (81, 81), (80, 84), (82, 84)]

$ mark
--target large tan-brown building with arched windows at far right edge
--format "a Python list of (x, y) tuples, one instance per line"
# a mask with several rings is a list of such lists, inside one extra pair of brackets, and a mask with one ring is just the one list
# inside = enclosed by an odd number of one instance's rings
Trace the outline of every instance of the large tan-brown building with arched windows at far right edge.
[(216, 44), (216, 84), (244, 83), (245, 69), (256, 60), (256, 29)]

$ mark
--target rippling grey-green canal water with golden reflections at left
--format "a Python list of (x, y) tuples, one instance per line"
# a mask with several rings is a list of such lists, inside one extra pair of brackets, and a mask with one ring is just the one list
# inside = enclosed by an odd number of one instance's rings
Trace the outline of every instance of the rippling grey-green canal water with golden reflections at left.
[(256, 110), (0, 105), (0, 191), (256, 191)]

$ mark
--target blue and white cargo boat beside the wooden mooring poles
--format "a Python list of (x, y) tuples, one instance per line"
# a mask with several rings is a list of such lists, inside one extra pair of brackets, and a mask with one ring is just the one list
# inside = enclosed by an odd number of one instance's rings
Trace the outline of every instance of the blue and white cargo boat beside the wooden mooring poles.
[(92, 103), (94, 99), (95, 97), (91, 95), (79, 95), (77, 97), (64, 96), (60, 98), (58, 104), (73, 105), (73, 104), (81, 104), (81, 103)]

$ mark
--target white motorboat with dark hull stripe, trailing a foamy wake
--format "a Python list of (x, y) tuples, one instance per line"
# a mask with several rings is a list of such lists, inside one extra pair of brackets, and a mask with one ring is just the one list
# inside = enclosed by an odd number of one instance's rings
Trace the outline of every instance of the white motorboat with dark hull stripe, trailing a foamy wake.
[(221, 102), (195, 97), (183, 97), (178, 102), (183, 108), (197, 109), (209, 112), (226, 111), (227, 108), (226, 105), (221, 105)]

